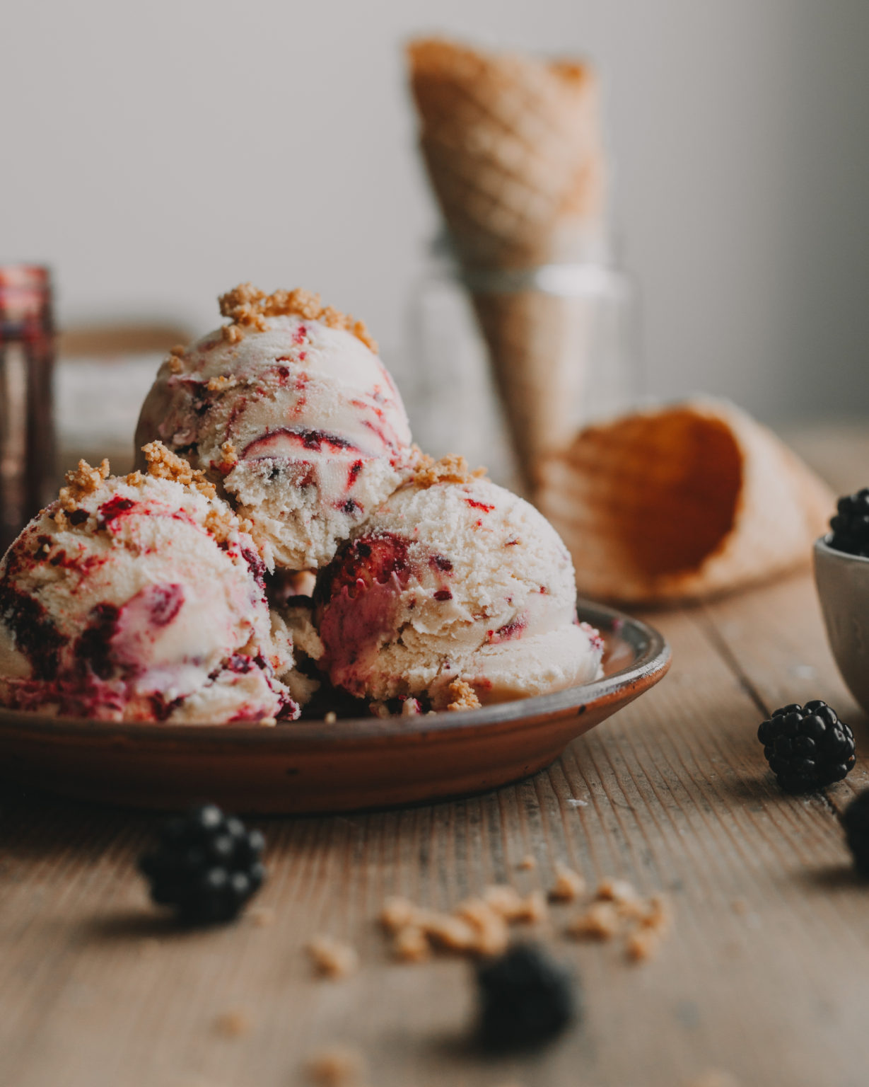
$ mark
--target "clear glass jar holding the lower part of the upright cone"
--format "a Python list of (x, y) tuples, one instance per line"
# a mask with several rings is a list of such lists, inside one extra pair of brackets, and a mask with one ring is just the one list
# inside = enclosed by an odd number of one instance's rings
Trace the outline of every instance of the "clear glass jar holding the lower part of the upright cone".
[(439, 239), (410, 313), (399, 379), (416, 441), (526, 493), (547, 450), (641, 396), (634, 291), (600, 241), (513, 271), (462, 268)]

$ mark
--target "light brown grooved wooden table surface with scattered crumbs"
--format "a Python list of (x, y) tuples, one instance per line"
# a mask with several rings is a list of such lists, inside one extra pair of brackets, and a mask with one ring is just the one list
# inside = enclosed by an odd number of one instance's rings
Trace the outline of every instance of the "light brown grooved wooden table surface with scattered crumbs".
[[(837, 491), (869, 479), (865, 428), (794, 437)], [(2, 786), (0, 1084), (291, 1087), (336, 1044), (365, 1054), (369, 1087), (866, 1084), (869, 886), (840, 816), (869, 785), (869, 729), (810, 577), (645, 617), (672, 645), (669, 676), (536, 777), (424, 808), (257, 821), (270, 877), (256, 904), (272, 912), (226, 928), (179, 933), (150, 908), (135, 860), (155, 816)], [(791, 797), (755, 733), (810, 698), (852, 721), (858, 763)], [(536, 869), (519, 867), (527, 854)], [(582, 1021), (542, 1053), (484, 1060), (466, 1044), (468, 963), (392, 961), (379, 905), (546, 889), (557, 863), (665, 891), (672, 935), (632, 964), (618, 942), (566, 938), (572, 908), (554, 907), (537, 935), (580, 975)], [(315, 934), (352, 942), (358, 972), (312, 977)]]

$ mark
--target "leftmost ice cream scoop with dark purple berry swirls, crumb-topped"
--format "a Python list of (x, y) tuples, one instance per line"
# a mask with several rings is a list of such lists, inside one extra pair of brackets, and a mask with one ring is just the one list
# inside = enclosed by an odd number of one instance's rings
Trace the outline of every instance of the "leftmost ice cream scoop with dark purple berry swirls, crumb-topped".
[(84, 461), (0, 562), (0, 704), (111, 721), (297, 717), (254, 540), (168, 450)]

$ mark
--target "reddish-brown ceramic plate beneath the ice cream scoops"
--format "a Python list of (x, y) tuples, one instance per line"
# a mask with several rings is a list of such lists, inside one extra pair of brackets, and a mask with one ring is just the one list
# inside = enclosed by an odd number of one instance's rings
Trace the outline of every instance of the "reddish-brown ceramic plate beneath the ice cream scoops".
[(0, 770), (70, 797), (174, 809), (325, 812), (455, 797), (542, 770), (670, 664), (652, 627), (580, 601), (603, 679), (461, 713), (257, 725), (131, 725), (0, 710)]

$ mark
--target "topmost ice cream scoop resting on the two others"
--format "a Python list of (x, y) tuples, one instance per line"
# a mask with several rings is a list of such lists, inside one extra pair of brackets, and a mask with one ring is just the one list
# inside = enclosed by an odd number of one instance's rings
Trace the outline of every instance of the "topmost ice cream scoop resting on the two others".
[(408, 475), (401, 397), (361, 323), (249, 286), (232, 323), (163, 363), (137, 447), (160, 438), (222, 484), (276, 565), (313, 570)]

